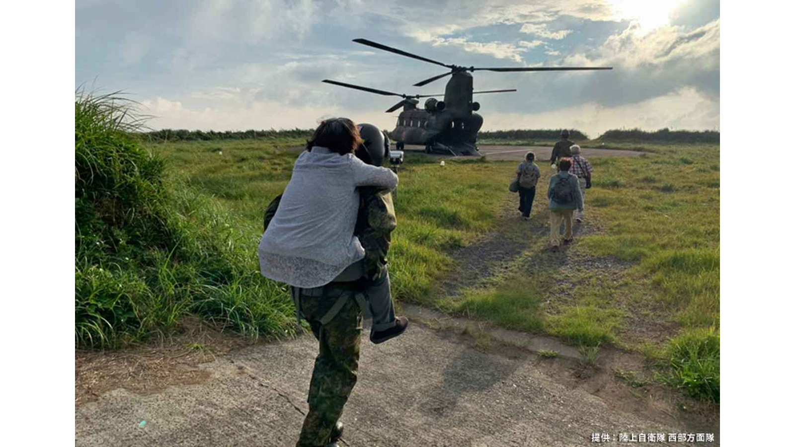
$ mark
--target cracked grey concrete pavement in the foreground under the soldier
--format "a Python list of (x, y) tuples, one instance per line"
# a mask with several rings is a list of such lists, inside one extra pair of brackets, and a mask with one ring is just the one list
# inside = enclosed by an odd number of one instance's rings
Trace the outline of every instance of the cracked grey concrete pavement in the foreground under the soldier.
[[(105, 392), (76, 407), (76, 445), (293, 445), (316, 352), (312, 336), (257, 344), (192, 367), (199, 383)], [(481, 352), (424, 325), (363, 343), (360, 365), (343, 445), (568, 446), (590, 445), (591, 433), (714, 433), (650, 411), (655, 402), (599, 398), (568, 360), (507, 346)], [(603, 379), (602, 389), (615, 387)]]

